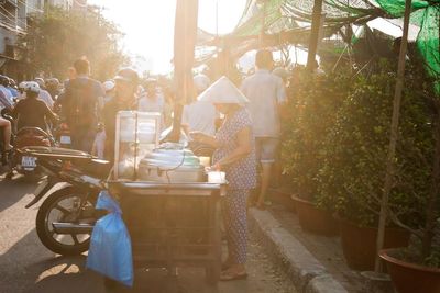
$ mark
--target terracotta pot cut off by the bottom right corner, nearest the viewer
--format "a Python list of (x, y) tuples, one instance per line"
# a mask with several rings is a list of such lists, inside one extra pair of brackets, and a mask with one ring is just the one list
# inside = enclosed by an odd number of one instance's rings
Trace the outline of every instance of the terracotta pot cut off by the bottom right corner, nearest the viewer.
[(428, 268), (399, 260), (393, 257), (397, 249), (385, 249), (380, 256), (386, 262), (398, 293), (439, 293), (440, 269)]

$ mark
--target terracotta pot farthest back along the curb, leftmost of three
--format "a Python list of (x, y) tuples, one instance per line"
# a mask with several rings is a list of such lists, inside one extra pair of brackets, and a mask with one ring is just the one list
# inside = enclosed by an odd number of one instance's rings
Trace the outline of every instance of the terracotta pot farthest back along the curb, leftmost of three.
[(295, 202), (299, 225), (304, 230), (323, 236), (337, 236), (338, 223), (330, 212), (318, 209), (311, 202), (292, 195)]

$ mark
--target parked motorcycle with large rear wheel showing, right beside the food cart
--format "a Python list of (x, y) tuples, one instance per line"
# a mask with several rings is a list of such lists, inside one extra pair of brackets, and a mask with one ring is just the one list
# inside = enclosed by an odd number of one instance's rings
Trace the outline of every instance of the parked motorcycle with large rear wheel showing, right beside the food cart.
[(110, 164), (65, 148), (24, 147), (19, 151), (35, 157), (45, 174), (35, 198), (25, 206), (30, 209), (48, 193), (35, 221), (42, 244), (63, 256), (87, 251), (94, 225), (106, 213), (97, 211), (95, 205), (111, 171)]

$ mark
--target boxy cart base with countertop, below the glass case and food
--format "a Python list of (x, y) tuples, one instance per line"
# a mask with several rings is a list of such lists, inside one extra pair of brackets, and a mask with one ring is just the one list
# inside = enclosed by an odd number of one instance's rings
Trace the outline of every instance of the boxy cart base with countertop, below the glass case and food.
[(205, 268), (215, 284), (221, 268), (220, 198), (213, 183), (109, 182), (132, 240), (134, 268)]

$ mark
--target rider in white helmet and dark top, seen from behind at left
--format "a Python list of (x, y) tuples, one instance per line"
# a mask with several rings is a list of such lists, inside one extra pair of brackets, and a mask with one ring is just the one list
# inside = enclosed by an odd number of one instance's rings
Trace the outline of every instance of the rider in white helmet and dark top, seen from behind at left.
[(35, 81), (26, 82), (26, 98), (20, 100), (12, 110), (12, 116), (18, 120), (18, 129), (23, 127), (40, 127), (47, 131), (48, 120), (56, 122), (57, 116), (47, 104), (38, 99), (40, 86)]

